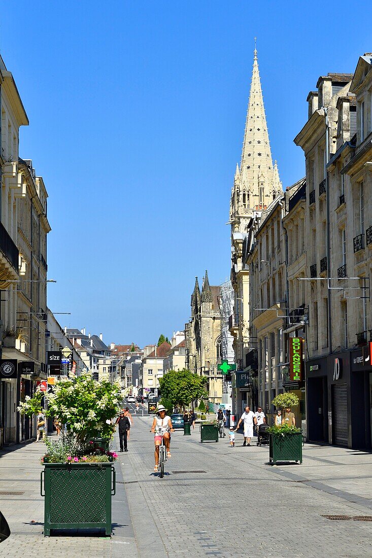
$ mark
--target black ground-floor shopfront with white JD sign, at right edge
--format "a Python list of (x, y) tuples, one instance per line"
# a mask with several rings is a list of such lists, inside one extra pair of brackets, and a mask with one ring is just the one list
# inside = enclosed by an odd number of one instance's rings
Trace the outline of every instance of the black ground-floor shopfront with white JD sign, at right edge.
[(362, 349), (309, 360), (308, 439), (371, 449), (372, 367)]

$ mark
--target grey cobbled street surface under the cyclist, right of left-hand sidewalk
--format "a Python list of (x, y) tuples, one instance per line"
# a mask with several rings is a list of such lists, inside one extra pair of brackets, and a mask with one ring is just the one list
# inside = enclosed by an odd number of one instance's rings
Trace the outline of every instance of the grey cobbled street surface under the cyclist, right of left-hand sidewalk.
[(372, 556), (372, 522), (322, 517), (372, 515), (371, 454), (307, 444), (302, 465), (270, 466), (239, 434), (230, 448), (177, 431), (160, 479), (150, 424), (137, 419), (123, 462), (141, 558)]

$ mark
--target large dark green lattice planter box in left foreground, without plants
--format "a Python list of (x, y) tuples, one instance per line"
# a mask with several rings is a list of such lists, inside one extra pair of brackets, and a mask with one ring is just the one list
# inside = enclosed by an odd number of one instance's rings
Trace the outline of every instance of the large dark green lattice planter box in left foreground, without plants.
[(111, 497), (116, 484), (112, 463), (45, 463), (40, 484), (45, 497), (45, 537), (53, 529), (104, 528), (111, 535)]

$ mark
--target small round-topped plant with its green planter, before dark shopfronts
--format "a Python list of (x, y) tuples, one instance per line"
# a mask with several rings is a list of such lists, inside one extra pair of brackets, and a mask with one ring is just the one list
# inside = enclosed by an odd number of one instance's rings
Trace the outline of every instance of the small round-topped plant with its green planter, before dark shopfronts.
[(270, 426), (269, 450), (270, 465), (278, 461), (295, 461), (302, 463), (302, 430), (284, 421), (285, 409), (297, 407), (299, 399), (295, 393), (280, 393), (271, 402), (275, 407), (282, 408), (283, 422), (280, 426)]

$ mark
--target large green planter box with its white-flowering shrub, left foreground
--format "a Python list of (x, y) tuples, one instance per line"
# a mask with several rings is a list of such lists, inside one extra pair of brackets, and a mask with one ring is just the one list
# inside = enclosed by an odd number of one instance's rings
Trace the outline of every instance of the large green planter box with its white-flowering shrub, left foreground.
[[(41, 410), (43, 394), (26, 397), (18, 410), (32, 416)], [(71, 374), (45, 393), (46, 416), (65, 425), (59, 440), (46, 440), (41, 458), (41, 494), (45, 496), (44, 535), (54, 529), (104, 528), (111, 535), (111, 496), (115, 494), (117, 454), (92, 442), (111, 440), (121, 401), (119, 382), (108, 376), (97, 382), (92, 374)], [(44, 477), (44, 493), (42, 493)]]

